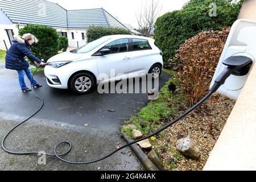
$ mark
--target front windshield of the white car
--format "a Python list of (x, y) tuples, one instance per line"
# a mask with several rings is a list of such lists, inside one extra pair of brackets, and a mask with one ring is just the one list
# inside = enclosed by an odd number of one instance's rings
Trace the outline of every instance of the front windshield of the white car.
[(103, 44), (104, 42), (110, 40), (110, 38), (100, 38), (100, 39), (97, 39), (97, 40), (94, 40), (93, 42), (90, 42), (88, 44), (85, 44), (85, 46), (82, 46), (78, 49), (75, 49), (71, 52), (73, 53), (86, 53), (86, 52), (90, 52), (92, 51), (94, 48), (100, 46), (101, 44)]

